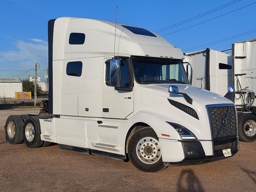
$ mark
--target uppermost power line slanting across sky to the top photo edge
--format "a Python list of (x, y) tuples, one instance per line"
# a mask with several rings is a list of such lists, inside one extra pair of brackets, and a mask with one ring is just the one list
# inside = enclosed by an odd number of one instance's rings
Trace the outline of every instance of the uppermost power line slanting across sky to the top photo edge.
[(229, 7), (230, 5), (235, 4), (235, 3), (238, 3), (238, 2), (240, 2), (240, 1), (242, 1), (242, 0), (239, 0), (239, 1), (237, 1), (237, 0), (231, 1), (231, 2), (229, 2), (229, 3), (226, 3), (226, 4), (224, 4), (224, 5), (221, 5), (220, 7), (217, 7), (217, 8), (211, 9), (211, 10), (209, 10), (209, 11), (206, 11), (205, 13), (202, 13), (202, 14), (200, 14), (200, 15), (196, 15), (196, 16), (194, 16), (193, 18), (189, 18), (189, 19), (186, 19), (186, 20), (184, 20), (184, 21), (178, 22), (177, 24), (173, 24), (173, 25), (170, 25), (170, 26), (161, 28), (161, 29), (159, 29), (159, 30), (156, 30), (155, 32), (160, 33), (160, 32), (162, 32), (162, 31), (170, 30), (171, 28), (174, 28), (174, 27), (177, 27), (177, 26), (186, 24), (187, 22), (194, 21), (194, 20), (196, 20), (196, 19), (202, 18), (203, 16), (206, 16), (206, 15), (209, 15), (209, 14), (211, 14), (211, 13), (214, 13), (214, 12), (220, 10), (220, 9), (224, 9), (224, 8), (226, 8), (226, 7)]

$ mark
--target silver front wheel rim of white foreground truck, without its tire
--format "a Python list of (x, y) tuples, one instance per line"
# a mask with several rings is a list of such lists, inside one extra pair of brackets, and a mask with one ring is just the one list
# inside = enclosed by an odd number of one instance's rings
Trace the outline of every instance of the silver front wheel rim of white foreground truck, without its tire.
[(145, 164), (154, 164), (161, 158), (160, 143), (154, 137), (144, 137), (137, 143), (137, 156)]

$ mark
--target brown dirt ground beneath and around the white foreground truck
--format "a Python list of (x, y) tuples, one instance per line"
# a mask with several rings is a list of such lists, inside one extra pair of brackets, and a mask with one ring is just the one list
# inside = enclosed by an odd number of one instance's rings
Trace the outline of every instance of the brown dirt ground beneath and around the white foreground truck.
[(228, 159), (145, 173), (131, 162), (58, 145), (30, 149), (5, 141), (10, 114), (38, 113), (39, 108), (0, 110), (0, 191), (256, 191), (256, 142), (240, 142)]

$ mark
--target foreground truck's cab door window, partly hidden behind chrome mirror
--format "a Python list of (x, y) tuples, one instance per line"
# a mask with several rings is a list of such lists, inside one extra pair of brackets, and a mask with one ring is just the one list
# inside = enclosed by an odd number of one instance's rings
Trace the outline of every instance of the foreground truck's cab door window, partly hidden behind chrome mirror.
[[(121, 60), (120, 66), (120, 88), (129, 88), (130, 87), (130, 76), (129, 76), (129, 67), (126, 60)], [(110, 86), (110, 60), (106, 61), (106, 85)]]

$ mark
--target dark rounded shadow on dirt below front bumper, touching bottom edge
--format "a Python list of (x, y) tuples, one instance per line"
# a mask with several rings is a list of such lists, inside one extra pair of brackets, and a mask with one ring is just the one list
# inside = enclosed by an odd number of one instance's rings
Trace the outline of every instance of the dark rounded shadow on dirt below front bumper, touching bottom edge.
[(205, 191), (193, 170), (182, 170), (177, 183), (177, 192)]

